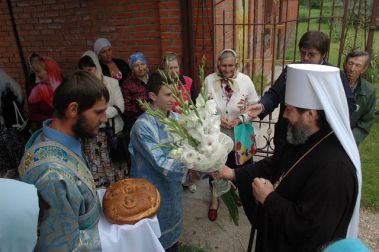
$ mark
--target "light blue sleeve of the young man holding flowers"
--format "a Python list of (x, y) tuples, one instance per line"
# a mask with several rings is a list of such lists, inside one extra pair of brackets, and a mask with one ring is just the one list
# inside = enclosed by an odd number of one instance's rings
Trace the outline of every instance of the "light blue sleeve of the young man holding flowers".
[(148, 125), (145, 120), (137, 121), (134, 126), (131, 141), (135, 151), (143, 155), (145, 161), (164, 176), (181, 181), (186, 168), (181, 162), (168, 156), (168, 149), (158, 146), (167, 143), (165, 139), (159, 136), (160, 129), (153, 131), (153, 126)]

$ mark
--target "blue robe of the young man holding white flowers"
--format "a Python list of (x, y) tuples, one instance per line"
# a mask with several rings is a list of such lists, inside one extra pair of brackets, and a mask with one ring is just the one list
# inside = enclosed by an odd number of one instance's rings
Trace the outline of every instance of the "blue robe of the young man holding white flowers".
[[(176, 114), (170, 116), (176, 117)], [(158, 221), (162, 236), (159, 240), (167, 249), (179, 240), (183, 230), (182, 181), (187, 169), (168, 156), (167, 148), (158, 146), (172, 143), (164, 128), (157, 118), (142, 114), (132, 128), (129, 151), (130, 177), (147, 179), (161, 195)]]

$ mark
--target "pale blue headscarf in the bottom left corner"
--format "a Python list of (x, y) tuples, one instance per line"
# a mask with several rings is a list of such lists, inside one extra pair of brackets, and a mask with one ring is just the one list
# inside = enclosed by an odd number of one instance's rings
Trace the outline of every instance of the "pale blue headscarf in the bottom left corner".
[(37, 188), (0, 178), (0, 251), (33, 251), (37, 243)]

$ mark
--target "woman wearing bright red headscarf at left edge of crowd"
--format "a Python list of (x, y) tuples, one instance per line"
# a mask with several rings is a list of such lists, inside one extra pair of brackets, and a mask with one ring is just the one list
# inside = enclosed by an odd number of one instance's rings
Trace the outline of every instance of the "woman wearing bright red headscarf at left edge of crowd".
[(43, 58), (34, 61), (33, 70), (37, 76), (37, 85), (28, 98), (29, 117), (33, 129), (42, 126), (42, 122), (53, 115), (53, 96), (55, 89), (62, 82), (62, 75), (57, 62)]

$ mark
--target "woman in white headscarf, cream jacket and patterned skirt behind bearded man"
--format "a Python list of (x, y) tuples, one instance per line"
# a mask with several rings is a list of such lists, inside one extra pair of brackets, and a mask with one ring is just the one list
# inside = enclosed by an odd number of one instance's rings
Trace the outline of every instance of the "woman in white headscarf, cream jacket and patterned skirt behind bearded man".
[[(106, 114), (109, 126), (115, 134), (121, 132), (124, 122), (120, 115), (124, 112), (124, 98), (117, 80), (102, 74), (99, 60), (93, 51), (86, 51), (78, 66), (79, 69), (94, 74), (107, 87), (109, 102)], [(105, 129), (106, 125), (102, 125), (96, 137), (83, 139), (84, 152), (97, 187), (106, 187), (124, 179), (128, 171), (126, 161), (111, 162)]]

